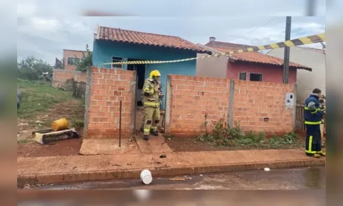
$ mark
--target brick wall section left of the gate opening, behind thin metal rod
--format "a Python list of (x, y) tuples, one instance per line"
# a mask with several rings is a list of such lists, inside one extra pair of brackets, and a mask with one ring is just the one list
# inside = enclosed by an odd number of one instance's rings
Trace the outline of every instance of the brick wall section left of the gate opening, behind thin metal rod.
[[(87, 82), (88, 83), (88, 82)], [(86, 108), (86, 137), (119, 137), (120, 100), (122, 100), (122, 138), (133, 135), (135, 71), (93, 67), (89, 104)]]

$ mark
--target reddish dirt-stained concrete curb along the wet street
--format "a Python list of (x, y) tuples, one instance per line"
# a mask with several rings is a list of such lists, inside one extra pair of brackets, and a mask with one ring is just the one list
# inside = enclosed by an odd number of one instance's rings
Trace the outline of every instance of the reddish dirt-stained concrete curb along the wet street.
[(18, 175), (17, 187), (23, 185), (37, 184), (57, 184), (73, 183), (83, 181), (104, 181), (113, 179), (138, 179), (140, 172), (144, 169), (151, 171), (154, 177), (178, 176), (190, 174), (206, 174), (215, 172), (238, 172), (245, 170), (261, 170), (263, 168), (280, 169), (280, 168), (300, 168), (311, 166), (323, 166), (325, 159), (300, 159), (293, 161), (274, 161), (259, 163), (241, 163), (226, 165), (194, 165), (189, 167), (160, 167), (160, 168), (139, 168), (133, 170), (98, 170), (93, 172), (67, 172), (67, 173), (50, 173), (50, 174), (30, 174)]

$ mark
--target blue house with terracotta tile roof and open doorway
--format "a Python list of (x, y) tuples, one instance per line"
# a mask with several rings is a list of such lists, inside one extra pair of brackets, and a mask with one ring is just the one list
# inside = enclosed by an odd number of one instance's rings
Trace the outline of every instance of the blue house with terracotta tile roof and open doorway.
[[(178, 60), (195, 58), (197, 54), (211, 54), (210, 51), (184, 40), (178, 36), (151, 34), (122, 30), (120, 28), (97, 27), (93, 41), (93, 65), (108, 62), (122, 62), (133, 60)], [(185, 76), (196, 75), (196, 61), (147, 64), (147, 65), (103, 65), (110, 69), (129, 69), (137, 71), (138, 92), (140, 103), (140, 90), (149, 73), (158, 69), (162, 74), (161, 81), (166, 85), (168, 74)], [(166, 87), (162, 87), (165, 93)]]

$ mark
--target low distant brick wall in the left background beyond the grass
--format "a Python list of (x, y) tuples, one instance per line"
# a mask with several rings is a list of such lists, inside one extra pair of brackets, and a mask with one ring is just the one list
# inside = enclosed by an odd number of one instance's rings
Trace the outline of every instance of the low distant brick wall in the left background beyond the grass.
[(67, 69), (54, 69), (52, 75), (52, 87), (64, 87), (65, 82), (74, 78), (76, 82), (86, 82), (87, 73)]

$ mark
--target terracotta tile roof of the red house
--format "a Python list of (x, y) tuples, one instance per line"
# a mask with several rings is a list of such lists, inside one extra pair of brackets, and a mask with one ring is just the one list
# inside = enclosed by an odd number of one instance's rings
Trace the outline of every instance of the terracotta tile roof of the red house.
[[(225, 49), (221, 47), (211, 47), (211, 48), (217, 50), (218, 52), (230, 51), (230, 49)], [(230, 58), (234, 60), (240, 60), (240, 61), (245, 61), (245, 62), (255, 62), (255, 63), (261, 63), (261, 64), (267, 64), (267, 65), (280, 65), (280, 66), (283, 65), (283, 59), (276, 58), (274, 56), (269, 56), (266, 54), (260, 54), (258, 52), (245, 52), (245, 53), (239, 53), (239, 54), (232, 54)], [(289, 62), (289, 67), (296, 67), (298, 69), (306, 69), (308, 71), (312, 71), (311, 68), (296, 64), (294, 62)]]

